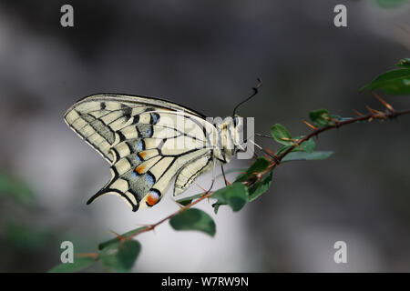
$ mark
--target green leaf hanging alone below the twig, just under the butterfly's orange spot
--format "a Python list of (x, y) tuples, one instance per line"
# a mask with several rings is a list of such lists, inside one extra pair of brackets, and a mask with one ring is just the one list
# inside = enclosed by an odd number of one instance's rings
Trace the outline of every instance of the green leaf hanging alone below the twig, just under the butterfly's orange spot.
[(216, 232), (213, 219), (197, 208), (182, 210), (177, 216), (169, 219), (169, 224), (175, 230), (199, 230), (210, 236), (215, 236)]

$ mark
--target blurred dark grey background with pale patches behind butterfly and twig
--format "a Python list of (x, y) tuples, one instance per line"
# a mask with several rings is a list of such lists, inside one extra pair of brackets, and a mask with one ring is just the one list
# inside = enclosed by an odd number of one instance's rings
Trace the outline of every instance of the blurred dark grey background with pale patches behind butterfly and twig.
[[(300, 135), (310, 110), (349, 116), (379, 106), (358, 89), (410, 48), (410, 5), (381, 3), (390, 2), (2, 0), (0, 171), (25, 181), (36, 205), (0, 196), (0, 271), (46, 271), (59, 263), (62, 240), (93, 252), (109, 229), (125, 232), (178, 207), (170, 194), (138, 213), (117, 196), (85, 205), (110, 174), (63, 121), (79, 98), (152, 95), (224, 116), (261, 77), (260, 95), (240, 114), (255, 116), (256, 132), (281, 123)], [(72, 28), (60, 25), (64, 4), (74, 7)], [(333, 25), (337, 4), (347, 6), (347, 27)], [(279, 166), (270, 191), (240, 213), (224, 207), (214, 216), (202, 203), (216, 221), (214, 238), (169, 224), (139, 236), (135, 271), (410, 271), (409, 128), (403, 116), (321, 135), (317, 148), (334, 156)], [(186, 195), (199, 192), (194, 185)], [(333, 262), (338, 240), (347, 243), (347, 264)]]

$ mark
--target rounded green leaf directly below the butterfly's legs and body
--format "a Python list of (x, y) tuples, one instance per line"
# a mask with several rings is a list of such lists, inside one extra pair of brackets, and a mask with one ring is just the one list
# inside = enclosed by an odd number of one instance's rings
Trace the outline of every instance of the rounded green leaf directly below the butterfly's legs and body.
[(248, 202), (249, 192), (246, 186), (240, 182), (234, 182), (214, 192), (211, 197), (218, 199), (218, 204), (227, 204), (233, 211), (239, 211)]

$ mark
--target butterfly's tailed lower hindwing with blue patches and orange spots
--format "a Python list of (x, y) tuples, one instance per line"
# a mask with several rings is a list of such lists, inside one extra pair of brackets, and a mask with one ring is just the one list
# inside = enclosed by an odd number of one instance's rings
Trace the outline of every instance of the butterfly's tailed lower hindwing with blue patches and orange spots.
[(133, 142), (135, 145), (130, 146), (139, 151), (121, 157), (111, 166), (113, 178), (88, 204), (99, 196), (117, 194), (125, 198), (134, 211), (140, 206), (154, 206), (167, 192), (172, 178), (179, 172), (187, 173), (182, 169), (184, 166), (203, 156), (210, 156), (207, 148), (187, 149), (178, 155), (163, 156), (159, 155), (157, 148), (139, 146), (143, 140)]

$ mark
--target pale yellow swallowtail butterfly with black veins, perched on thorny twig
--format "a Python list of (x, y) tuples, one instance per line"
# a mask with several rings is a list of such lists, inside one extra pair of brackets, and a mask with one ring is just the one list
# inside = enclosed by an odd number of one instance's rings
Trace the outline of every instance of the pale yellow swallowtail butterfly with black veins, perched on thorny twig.
[(114, 194), (133, 211), (154, 206), (173, 178), (176, 196), (198, 176), (217, 163), (229, 163), (243, 149), (239, 138), (243, 121), (238, 115), (212, 122), (190, 108), (159, 98), (89, 95), (72, 105), (64, 119), (110, 164), (110, 181), (87, 205), (97, 197)]

